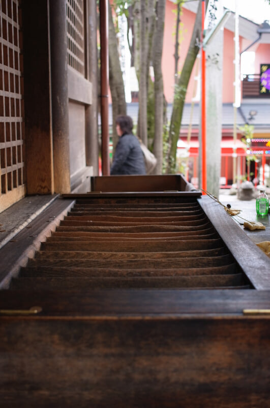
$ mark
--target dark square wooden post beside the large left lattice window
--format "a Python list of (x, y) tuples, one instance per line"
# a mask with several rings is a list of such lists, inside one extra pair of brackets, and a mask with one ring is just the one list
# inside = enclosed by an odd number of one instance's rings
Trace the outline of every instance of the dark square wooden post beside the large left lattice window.
[(27, 194), (53, 188), (48, 0), (22, 2)]

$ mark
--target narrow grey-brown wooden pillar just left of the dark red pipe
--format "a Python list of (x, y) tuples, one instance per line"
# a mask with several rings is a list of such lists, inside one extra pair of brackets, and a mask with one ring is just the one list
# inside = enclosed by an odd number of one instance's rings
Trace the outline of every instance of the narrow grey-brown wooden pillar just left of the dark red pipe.
[(88, 38), (86, 79), (92, 83), (92, 104), (85, 108), (85, 156), (86, 165), (93, 166), (94, 175), (99, 175), (97, 5), (93, 0), (84, 1), (86, 9), (84, 22)]

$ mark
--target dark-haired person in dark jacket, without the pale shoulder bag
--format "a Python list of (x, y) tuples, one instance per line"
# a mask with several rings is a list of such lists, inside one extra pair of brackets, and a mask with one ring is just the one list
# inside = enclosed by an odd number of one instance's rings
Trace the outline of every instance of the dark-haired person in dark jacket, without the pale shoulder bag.
[(119, 115), (115, 122), (119, 140), (115, 147), (110, 174), (146, 174), (139, 140), (132, 133), (132, 118)]

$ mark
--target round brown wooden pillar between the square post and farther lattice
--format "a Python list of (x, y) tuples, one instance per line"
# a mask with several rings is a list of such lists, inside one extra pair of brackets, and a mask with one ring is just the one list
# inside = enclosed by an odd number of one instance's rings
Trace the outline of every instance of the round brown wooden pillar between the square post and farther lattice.
[[(39, 2), (37, 2), (39, 3)], [(54, 189), (70, 192), (66, 0), (50, 0)]]

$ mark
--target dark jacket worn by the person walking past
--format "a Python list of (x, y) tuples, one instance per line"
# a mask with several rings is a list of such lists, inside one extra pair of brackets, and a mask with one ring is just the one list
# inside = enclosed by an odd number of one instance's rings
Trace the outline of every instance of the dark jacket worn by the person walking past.
[(124, 134), (119, 137), (111, 174), (146, 174), (140, 143), (133, 134)]

